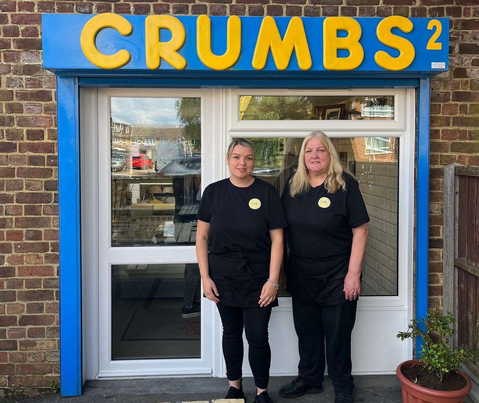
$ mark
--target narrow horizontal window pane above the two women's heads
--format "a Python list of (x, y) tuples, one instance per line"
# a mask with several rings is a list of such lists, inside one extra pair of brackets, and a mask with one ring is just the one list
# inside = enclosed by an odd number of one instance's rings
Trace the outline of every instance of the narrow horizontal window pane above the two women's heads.
[(240, 120), (394, 120), (394, 95), (241, 95)]

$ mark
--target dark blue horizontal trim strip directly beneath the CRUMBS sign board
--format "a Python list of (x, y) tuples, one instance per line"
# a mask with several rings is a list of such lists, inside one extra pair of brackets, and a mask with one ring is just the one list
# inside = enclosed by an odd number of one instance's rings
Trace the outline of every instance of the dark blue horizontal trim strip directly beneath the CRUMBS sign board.
[(201, 88), (201, 87), (236, 87), (236, 88), (387, 88), (387, 87), (418, 87), (419, 79), (402, 78), (364, 78), (364, 79), (322, 79), (322, 78), (79, 78), (82, 87), (173, 87), (173, 88)]

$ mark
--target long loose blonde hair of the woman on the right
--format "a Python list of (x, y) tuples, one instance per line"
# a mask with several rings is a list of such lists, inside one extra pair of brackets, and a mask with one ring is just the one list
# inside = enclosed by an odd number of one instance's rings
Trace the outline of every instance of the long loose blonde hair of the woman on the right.
[[(346, 191), (346, 182), (343, 174), (351, 175), (354, 178), (353, 173), (344, 168), (339, 162), (338, 153), (331, 143), (331, 140), (323, 132), (315, 131), (309, 133), (301, 144), (301, 150), (299, 151), (298, 168), (293, 178), (289, 181), (289, 191), (291, 197), (295, 197), (297, 194), (306, 193), (311, 185), (309, 184), (308, 168), (304, 163), (305, 148), (308, 141), (312, 138), (317, 138), (323, 144), (324, 148), (330, 154), (331, 162), (328, 167), (327, 176), (324, 180), (324, 187), (328, 190), (328, 193), (335, 193), (340, 188), (342, 191)], [(354, 178), (355, 179), (355, 178)]]

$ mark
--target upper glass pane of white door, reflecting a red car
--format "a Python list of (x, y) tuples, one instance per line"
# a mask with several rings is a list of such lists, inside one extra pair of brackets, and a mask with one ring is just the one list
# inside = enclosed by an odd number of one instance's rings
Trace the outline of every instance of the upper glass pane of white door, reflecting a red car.
[(112, 246), (194, 245), (201, 98), (110, 101)]

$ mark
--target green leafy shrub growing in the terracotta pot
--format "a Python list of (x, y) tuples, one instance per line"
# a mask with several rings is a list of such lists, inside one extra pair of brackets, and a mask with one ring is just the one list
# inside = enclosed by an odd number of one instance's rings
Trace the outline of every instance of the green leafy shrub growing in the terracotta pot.
[(454, 334), (453, 324), (455, 317), (451, 312), (443, 316), (439, 309), (430, 310), (427, 317), (422, 319), (426, 331), (419, 327), (418, 320), (411, 320), (407, 332), (399, 332), (401, 340), (421, 336), (424, 344), (420, 362), (424, 369), (433, 373), (441, 382), (446, 373), (457, 371), (463, 361), (479, 358), (477, 352), (468, 347), (451, 348), (449, 338)]

